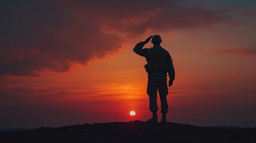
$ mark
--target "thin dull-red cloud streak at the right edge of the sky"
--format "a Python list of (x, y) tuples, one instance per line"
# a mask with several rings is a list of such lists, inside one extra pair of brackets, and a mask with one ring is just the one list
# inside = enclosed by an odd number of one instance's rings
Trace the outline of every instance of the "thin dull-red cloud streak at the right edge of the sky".
[(256, 49), (253, 48), (239, 48), (239, 49), (227, 49), (224, 51), (221, 51), (220, 54), (223, 55), (256, 55)]

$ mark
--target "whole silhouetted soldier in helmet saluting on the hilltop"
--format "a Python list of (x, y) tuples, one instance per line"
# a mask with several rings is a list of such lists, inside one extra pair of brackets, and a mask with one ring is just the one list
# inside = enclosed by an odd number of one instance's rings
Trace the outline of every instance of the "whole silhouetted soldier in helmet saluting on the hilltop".
[[(152, 38), (153, 47), (143, 48), (143, 46)], [(169, 76), (169, 86), (172, 85), (175, 79), (174, 66), (172, 58), (168, 51), (160, 46), (162, 42), (161, 36), (153, 35), (144, 42), (139, 42), (135, 45), (133, 51), (146, 58), (147, 64), (144, 66), (147, 71), (147, 95), (149, 95), (149, 109), (153, 116), (148, 122), (158, 123), (158, 105), (156, 102), (157, 94), (161, 100), (161, 123), (166, 123), (166, 113), (168, 113), (168, 104), (166, 95), (168, 95), (167, 75)]]

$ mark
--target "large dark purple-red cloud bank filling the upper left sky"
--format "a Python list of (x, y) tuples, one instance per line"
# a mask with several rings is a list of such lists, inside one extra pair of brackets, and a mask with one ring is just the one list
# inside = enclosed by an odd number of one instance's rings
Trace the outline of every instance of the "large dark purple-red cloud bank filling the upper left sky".
[(147, 29), (205, 27), (232, 21), (226, 11), (178, 1), (1, 1), (0, 75), (39, 76), (87, 64)]

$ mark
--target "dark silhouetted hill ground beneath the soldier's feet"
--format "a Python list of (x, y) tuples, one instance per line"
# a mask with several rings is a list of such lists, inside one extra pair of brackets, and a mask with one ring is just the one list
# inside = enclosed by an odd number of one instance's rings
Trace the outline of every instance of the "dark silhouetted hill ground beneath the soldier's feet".
[(0, 142), (256, 142), (256, 128), (113, 122), (0, 132)]

